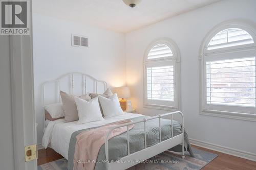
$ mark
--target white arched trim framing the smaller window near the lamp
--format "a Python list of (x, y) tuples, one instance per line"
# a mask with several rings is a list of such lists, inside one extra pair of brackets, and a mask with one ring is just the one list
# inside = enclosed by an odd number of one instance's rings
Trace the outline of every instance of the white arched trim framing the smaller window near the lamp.
[[(157, 44), (165, 44), (167, 45), (170, 50), (173, 52), (172, 57), (163, 57), (163, 58), (156, 58), (156, 59), (147, 59), (148, 53), (151, 51), (151, 49), (157, 45)], [(157, 62), (157, 61), (174, 61), (174, 87), (175, 87), (175, 105), (174, 106), (166, 106), (166, 105), (160, 105), (160, 104), (149, 104), (147, 102), (147, 78), (146, 78), (146, 68), (147, 64), (151, 62)], [(180, 102), (180, 51), (177, 46), (177, 44), (169, 38), (161, 37), (157, 38), (154, 41), (152, 41), (146, 48), (144, 53), (144, 59), (143, 59), (143, 106), (144, 108), (151, 108), (151, 109), (160, 109), (160, 110), (168, 110), (168, 111), (176, 111), (181, 109), (181, 102)]]

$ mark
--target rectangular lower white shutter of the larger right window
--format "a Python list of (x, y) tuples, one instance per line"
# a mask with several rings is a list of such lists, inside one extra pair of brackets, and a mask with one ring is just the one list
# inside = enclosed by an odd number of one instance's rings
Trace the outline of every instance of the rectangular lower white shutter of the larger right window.
[(255, 57), (206, 62), (207, 104), (255, 107)]

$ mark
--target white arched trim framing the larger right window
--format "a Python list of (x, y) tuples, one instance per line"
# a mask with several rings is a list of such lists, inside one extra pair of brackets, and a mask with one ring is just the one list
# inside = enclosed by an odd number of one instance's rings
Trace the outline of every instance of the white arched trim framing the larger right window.
[[(256, 114), (250, 114), (250, 113), (245, 113), (245, 112), (235, 112), (235, 111), (224, 111), (224, 110), (210, 110), (205, 108), (205, 62), (206, 58), (211, 57), (211, 56), (216, 56), (218, 54), (222, 55), (227, 55), (227, 54), (254, 54), (256, 56), (256, 30), (255, 27), (252, 27), (253, 23), (249, 23), (244, 20), (231, 20), (231, 21), (226, 21), (220, 23), (218, 26), (213, 28), (208, 34), (204, 37), (201, 47), (200, 47), (200, 52), (199, 52), (199, 91), (200, 91), (200, 96), (199, 96), (199, 114), (201, 115), (209, 115), (209, 116), (216, 116), (216, 117), (225, 117), (225, 118), (233, 118), (233, 119), (241, 119), (241, 120), (248, 120), (248, 121), (253, 121), (256, 122)], [(239, 46), (231, 46), (231, 47), (224, 47), (224, 48), (219, 48), (215, 50), (207, 50), (207, 46), (212, 39), (217, 33), (219, 33), (222, 30), (228, 29), (228, 28), (239, 28), (242, 30), (247, 31), (251, 36), (254, 41), (252, 44), (245, 44), (245, 45), (239, 45)], [(232, 59), (232, 57), (230, 57)], [(221, 106), (220, 107), (225, 107)], [(236, 106), (234, 106), (236, 107)], [(239, 107), (239, 106), (237, 106)], [(241, 107), (240, 107), (241, 108)], [(246, 107), (245, 107), (246, 108)], [(249, 109), (247, 109), (249, 110)], [(256, 108), (255, 108), (256, 112)]]

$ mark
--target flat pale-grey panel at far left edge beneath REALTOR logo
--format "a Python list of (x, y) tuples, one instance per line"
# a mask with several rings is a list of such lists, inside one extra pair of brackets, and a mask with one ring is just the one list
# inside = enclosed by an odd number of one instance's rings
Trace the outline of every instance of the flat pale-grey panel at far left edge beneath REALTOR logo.
[(14, 169), (9, 37), (0, 36), (0, 169)]

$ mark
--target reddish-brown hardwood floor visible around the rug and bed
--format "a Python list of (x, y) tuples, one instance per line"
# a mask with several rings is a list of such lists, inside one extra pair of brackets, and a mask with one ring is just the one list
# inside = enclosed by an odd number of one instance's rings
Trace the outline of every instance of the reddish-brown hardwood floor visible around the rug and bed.
[[(195, 145), (193, 145), (193, 147), (219, 155), (217, 158), (215, 158), (213, 161), (207, 164), (202, 170), (256, 170), (256, 162), (254, 161), (250, 161), (228, 154), (223, 154), (217, 151), (208, 150), (205, 148), (197, 147)], [(38, 157), (38, 165), (63, 158), (61, 155), (56, 153), (51, 148), (48, 148), (46, 150), (38, 150)]]

